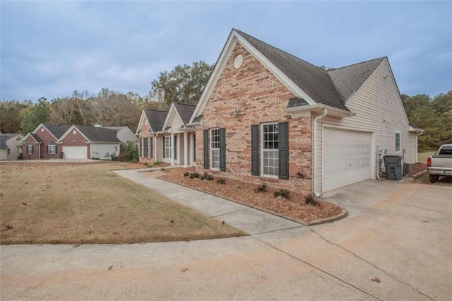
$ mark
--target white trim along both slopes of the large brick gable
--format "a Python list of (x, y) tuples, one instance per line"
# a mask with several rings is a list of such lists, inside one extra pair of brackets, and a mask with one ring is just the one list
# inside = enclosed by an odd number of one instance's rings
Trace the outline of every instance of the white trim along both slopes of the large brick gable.
[(234, 51), (234, 47), (236, 43), (239, 42), (245, 49), (248, 51), (253, 57), (255, 57), (270, 73), (273, 74), (280, 83), (285, 85), (285, 87), (294, 93), (295, 96), (299, 98), (304, 98), (308, 102), (309, 105), (315, 105), (316, 102), (307, 95), (301, 88), (298, 87), (293, 81), (288, 78), (285, 73), (280, 71), (269, 59), (267, 59), (261, 52), (258, 52), (256, 48), (254, 48), (242, 35), (237, 33), (236, 30), (232, 30), (229, 37), (227, 38), (227, 42), (220, 53), (220, 57), (218, 57), (217, 62), (215, 63), (215, 68), (213, 72), (210, 74), (208, 83), (206, 88), (204, 88), (201, 98), (196, 104), (195, 110), (191, 115), (189, 124), (193, 122), (193, 120), (201, 114), (204, 107), (206, 106), (206, 102), (210, 98), (210, 95), (213, 93), (213, 89), (215, 88), (218, 79), (222, 71), (225, 69), (227, 61), (230, 59), (232, 52)]

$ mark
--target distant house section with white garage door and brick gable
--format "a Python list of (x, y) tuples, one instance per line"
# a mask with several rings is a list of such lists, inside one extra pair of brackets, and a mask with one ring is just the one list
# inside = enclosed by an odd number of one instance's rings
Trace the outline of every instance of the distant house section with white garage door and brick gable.
[(64, 159), (110, 159), (119, 154), (121, 141), (115, 129), (71, 126), (59, 139)]

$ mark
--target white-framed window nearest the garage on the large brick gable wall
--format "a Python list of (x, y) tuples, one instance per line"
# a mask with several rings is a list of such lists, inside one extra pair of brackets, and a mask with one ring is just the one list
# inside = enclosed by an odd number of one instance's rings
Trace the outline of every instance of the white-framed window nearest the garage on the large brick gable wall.
[(278, 123), (262, 124), (261, 166), (262, 175), (278, 177), (279, 175), (279, 126)]

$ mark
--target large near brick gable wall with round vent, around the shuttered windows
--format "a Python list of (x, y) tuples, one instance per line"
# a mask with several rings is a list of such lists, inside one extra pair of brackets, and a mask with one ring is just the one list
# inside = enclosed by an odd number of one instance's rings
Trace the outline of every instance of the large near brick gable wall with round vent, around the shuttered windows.
[[(234, 67), (234, 58), (243, 55), (243, 64)], [(284, 112), (294, 95), (239, 43), (234, 47), (224, 71), (208, 100), (203, 128), (196, 131), (196, 167), (203, 171), (203, 129), (225, 127), (226, 172), (222, 176), (275, 187), (312, 192), (312, 119), (291, 119)], [(231, 116), (234, 108), (239, 116)], [(290, 179), (251, 176), (251, 125), (263, 122), (289, 123)], [(297, 172), (303, 176), (297, 176)]]

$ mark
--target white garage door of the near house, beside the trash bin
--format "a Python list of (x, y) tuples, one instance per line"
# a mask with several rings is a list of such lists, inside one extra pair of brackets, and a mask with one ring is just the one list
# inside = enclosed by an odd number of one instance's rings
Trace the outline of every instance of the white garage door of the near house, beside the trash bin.
[(371, 133), (325, 128), (322, 191), (371, 177)]

